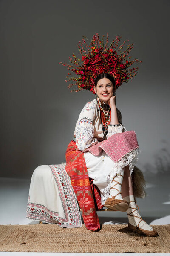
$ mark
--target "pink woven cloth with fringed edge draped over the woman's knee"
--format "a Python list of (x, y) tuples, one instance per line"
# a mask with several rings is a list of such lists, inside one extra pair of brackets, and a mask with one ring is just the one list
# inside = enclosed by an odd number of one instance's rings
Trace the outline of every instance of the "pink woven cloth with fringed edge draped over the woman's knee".
[(114, 163), (116, 163), (128, 152), (137, 148), (139, 148), (139, 145), (135, 131), (125, 131), (112, 135), (107, 140), (103, 140), (88, 148), (87, 151), (97, 156), (104, 150)]

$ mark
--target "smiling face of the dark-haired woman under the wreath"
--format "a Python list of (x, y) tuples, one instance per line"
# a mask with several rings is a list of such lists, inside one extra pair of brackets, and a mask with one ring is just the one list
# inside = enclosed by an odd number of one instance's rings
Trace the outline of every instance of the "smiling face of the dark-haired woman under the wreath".
[(115, 92), (111, 80), (106, 77), (98, 81), (96, 87), (94, 86), (94, 91), (97, 93), (99, 99), (101, 99), (106, 104), (108, 104), (108, 100), (111, 99), (113, 93)]

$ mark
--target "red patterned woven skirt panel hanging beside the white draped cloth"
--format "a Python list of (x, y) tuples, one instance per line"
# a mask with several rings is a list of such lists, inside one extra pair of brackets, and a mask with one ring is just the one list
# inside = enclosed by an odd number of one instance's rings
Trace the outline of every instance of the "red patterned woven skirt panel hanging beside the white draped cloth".
[(89, 180), (84, 153), (77, 148), (72, 140), (66, 151), (66, 172), (71, 178), (71, 185), (77, 196), (77, 201), (82, 209), (82, 217), (88, 230), (100, 228), (96, 210), (102, 209), (100, 191)]

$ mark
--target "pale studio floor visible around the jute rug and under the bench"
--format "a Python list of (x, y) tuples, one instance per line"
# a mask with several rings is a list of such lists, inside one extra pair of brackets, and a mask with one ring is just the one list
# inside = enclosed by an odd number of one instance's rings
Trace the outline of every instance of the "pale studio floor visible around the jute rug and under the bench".
[[(166, 180), (165, 180), (166, 181)], [(36, 224), (38, 221), (26, 219), (26, 206), (28, 200), (30, 180), (0, 178), (0, 225), (7, 224)], [(147, 184), (147, 197), (138, 199), (137, 203), (140, 214), (148, 224), (170, 224), (170, 191), (169, 185), (162, 184), (158, 187), (157, 182)], [(101, 224), (127, 224), (125, 212), (98, 212)], [(29, 255), (127, 255), (127, 253), (29, 253)], [(161, 255), (161, 253), (128, 253), (128, 255)], [(0, 252), (0, 256), (23, 256), (28, 253)], [(169, 255), (170, 253), (164, 253)]]

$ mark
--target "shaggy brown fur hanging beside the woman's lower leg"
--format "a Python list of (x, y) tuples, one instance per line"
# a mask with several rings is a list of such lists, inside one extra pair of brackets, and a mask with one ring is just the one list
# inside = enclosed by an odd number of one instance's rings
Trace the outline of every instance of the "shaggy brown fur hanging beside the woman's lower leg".
[(146, 194), (146, 180), (142, 171), (135, 166), (132, 172), (132, 181), (133, 181), (133, 195), (136, 198), (144, 198)]

